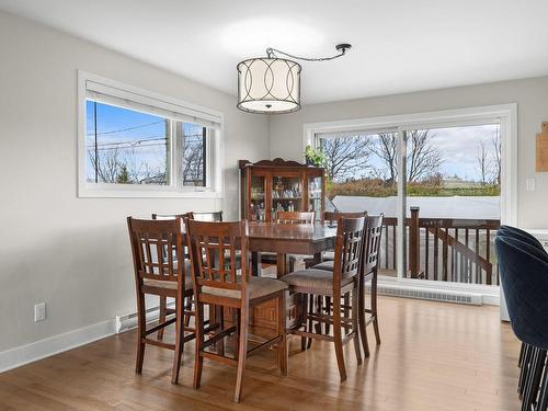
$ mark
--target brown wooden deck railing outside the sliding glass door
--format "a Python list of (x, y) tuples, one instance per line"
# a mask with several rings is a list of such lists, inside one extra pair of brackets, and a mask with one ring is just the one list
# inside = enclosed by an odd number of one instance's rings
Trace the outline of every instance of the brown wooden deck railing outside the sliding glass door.
[[(499, 285), (493, 238), (499, 219), (421, 218), (411, 207), (406, 219), (406, 276), (455, 283)], [(396, 275), (397, 225), (385, 218), (380, 267)]]

